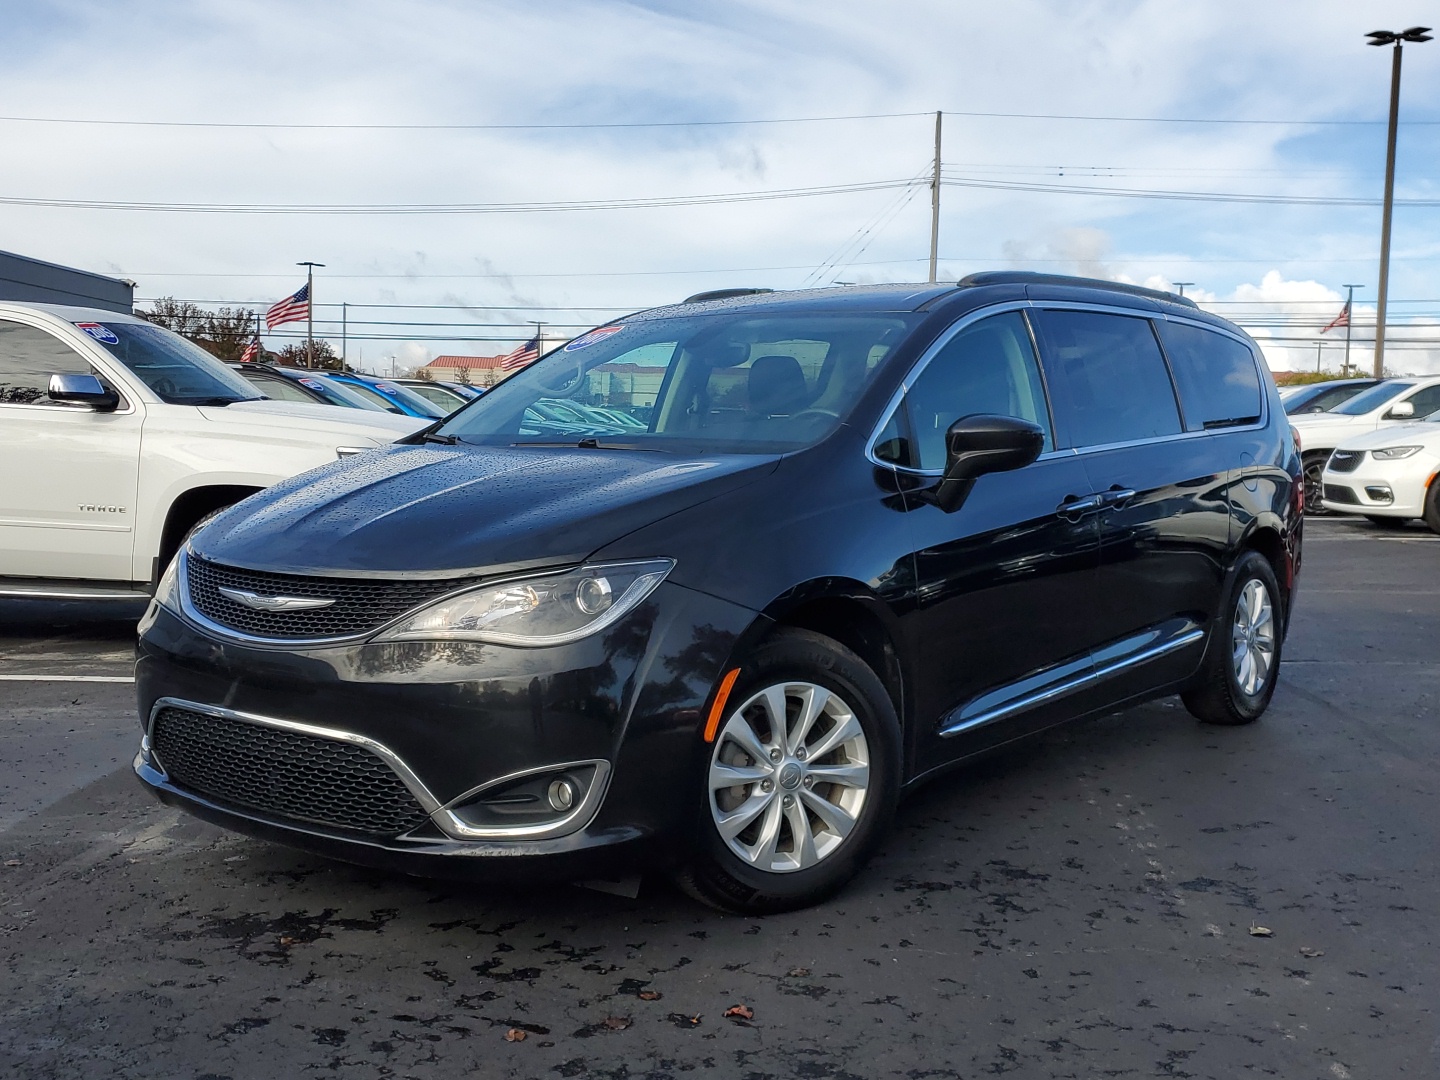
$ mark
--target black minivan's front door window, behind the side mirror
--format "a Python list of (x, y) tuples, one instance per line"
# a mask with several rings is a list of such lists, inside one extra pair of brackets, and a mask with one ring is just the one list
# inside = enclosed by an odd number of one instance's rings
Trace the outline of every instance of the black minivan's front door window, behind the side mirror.
[(968, 325), (930, 359), (876, 439), (876, 456), (927, 472), (943, 469), (945, 433), (976, 413), (1038, 423), (1045, 449), (1054, 449), (1040, 366), (1018, 311)]

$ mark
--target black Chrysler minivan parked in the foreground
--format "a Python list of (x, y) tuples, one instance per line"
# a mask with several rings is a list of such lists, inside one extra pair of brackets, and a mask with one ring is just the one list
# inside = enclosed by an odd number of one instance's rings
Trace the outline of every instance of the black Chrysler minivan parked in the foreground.
[(1181, 297), (694, 298), (196, 533), (135, 769), (356, 863), (799, 907), (976, 753), (1164, 694), (1259, 717), (1302, 498), (1257, 347)]

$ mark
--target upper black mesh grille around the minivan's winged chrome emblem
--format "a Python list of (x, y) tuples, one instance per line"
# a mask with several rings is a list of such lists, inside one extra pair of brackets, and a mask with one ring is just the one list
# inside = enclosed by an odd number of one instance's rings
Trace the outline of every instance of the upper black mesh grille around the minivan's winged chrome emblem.
[[(186, 557), (186, 586), (190, 603), (204, 618), (255, 638), (302, 641), (305, 638), (347, 638), (379, 629), (426, 600), (480, 577), (376, 579), (310, 577), (294, 573), (266, 573), (222, 566), (196, 556)], [(220, 595), (220, 586), (243, 589), (261, 596), (301, 596), (334, 600), (314, 611), (255, 611)]]

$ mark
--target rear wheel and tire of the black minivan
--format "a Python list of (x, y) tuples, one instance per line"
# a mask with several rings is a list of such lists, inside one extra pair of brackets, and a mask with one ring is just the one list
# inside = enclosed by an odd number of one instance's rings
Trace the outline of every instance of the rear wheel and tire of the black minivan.
[(1246, 552), (1230, 576), (1205, 660), (1192, 688), (1181, 694), (1191, 716), (1207, 724), (1248, 724), (1260, 719), (1280, 674), (1284, 609), (1274, 569), (1259, 552)]

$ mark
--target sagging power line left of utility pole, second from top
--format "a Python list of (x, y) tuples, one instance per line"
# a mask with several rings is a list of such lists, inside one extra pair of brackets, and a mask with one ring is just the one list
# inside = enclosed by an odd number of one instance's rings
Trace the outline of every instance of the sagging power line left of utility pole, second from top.
[(713, 206), (757, 203), (775, 199), (811, 199), (857, 192), (906, 187), (910, 180), (873, 180), (825, 187), (785, 187), (769, 192), (726, 192), (720, 194), (660, 196), (654, 199), (580, 199), (524, 203), (167, 203), (108, 199), (24, 199), (0, 196), (4, 206), (46, 206), (68, 210), (141, 210), (148, 213), (243, 213), (243, 215), (485, 215), (559, 213), (570, 210), (634, 210), (657, 206)]

